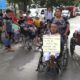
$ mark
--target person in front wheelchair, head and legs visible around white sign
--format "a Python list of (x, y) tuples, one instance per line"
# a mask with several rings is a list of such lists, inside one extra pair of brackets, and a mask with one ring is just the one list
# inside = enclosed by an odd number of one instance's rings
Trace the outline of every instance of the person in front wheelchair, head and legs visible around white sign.
[[(51, 24), (50, 29), (47, 34), (51, 34), (51, 35), (59, 34), (60, 35), (57, 28), (58, 28), (58, 26), (56, 24)], [(64, 40), (63, 40), (63, 38), (61, 38), (61, 50), (63, 50), (62, 49), (63, 47), (64, 47)], [(54, 66), (53, 63), (55, 62), (55, 60), (59, 59), (61, 56), (62, 56), (61, 53), (56, 53), (55, 55), (51, 55), (51, 53), (48, 52), (48, 53), (43, 54), (44, 61), (48, 62), (50, 69), (53, 68), (53, 66)]]

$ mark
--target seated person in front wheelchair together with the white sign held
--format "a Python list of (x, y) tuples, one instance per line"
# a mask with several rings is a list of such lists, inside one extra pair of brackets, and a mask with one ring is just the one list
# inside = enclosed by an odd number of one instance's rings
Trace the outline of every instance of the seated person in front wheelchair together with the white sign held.
[(55, 60), (61, 56), (63, 40), (57, 27), (56, 24), (51, 24), (49, 32), (43, 36), (43, 60), (49, 63), (49, 69), (53, 68)]

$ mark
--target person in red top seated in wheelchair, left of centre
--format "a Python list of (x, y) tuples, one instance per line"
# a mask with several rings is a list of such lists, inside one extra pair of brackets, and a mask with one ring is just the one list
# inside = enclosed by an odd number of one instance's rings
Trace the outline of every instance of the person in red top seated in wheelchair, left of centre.
[(34, 39), (36, 36), (36, 27), (33, 24), (32, 18), (27, 18), (27, 20), (22, 19), (20, 22), (21, 33), (25, 37), (29, 37), (30, 39)]

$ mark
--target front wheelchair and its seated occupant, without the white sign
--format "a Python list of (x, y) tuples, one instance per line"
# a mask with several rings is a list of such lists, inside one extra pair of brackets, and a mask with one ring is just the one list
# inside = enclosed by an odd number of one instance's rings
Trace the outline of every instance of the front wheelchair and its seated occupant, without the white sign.
[[(45, 34), (47, 35), (61, 35), (58, 31), (58, 26), (56, 24), (51, 24), (50, 27), (48, 28), (48, 32)], [(39, 58), (39, 63), (36, 71), (41, 70), (41, 65), (44, 67), (44, 64), (47, 64), (47, 71), (51, 71), (53, 69), (57, 70), (59, 73), (59, 69), (63, 71), (63, 68), (65, 69), (68, 63), (68, 49), (67, 45), (65, 46), (65, 39), (61, 36), (61, 50), (60, 52), (55, 53), (54, 55), (51, 54), (51, 52), (43, 52), (43, 49), (41, 51), (41, 56)], [(52, 44), (53, 45), (53, 44)], [(65, 57), (66, 55), (66, 57)], [(64, 57), (64, 58), (63, 58)], [(63, 60), (64, 59), (64, 60)], [(64, 62), (66, 61), (66, 62)], [(64, 64), (62, 64), (62, 62)], [(62, 68), (63, 67), (63, 68)]]

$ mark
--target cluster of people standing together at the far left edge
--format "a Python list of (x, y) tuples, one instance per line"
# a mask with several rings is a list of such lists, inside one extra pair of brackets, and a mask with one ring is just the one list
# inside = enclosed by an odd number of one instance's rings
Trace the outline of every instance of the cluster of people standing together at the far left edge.
[[(0, 13), (0, 41), (4, 43), (5, 47), (9, 51), (14, 51), (11, 48), (11, 43), (14, 35), (12, 28), (13, 23), (17, 23), (17, 18), (12, 10), (7, 9), (5, 14)], [(4, 37), (3, 37), (4, 36)]]

